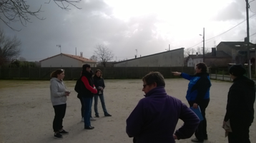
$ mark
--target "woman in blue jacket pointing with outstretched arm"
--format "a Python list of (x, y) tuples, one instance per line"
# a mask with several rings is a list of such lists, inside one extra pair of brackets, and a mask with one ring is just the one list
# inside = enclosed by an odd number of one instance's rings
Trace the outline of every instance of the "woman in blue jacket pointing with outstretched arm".
[(195, 75), (188, 75), (187, 73), (172, 72), (174, 75), (182, 76), (182, 78), (189, 80), (187, 88), (186, 99), (190, 107), (200, 107), (202, 117), (204, 120), (200, 122), (196, 132), (195, 139), (192, 142), (204, 142), (208, 139), (207, 135), (207, 120), (205, 118), (205, 110), (210, 102), (210, 76), (207, 73), (207, 65), (205, 63), (198, 63), (195, 68)]

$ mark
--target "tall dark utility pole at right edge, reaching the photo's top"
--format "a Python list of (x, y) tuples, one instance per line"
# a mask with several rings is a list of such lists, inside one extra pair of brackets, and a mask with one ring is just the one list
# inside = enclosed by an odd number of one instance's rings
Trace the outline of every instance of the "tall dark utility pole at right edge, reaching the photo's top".
[(251, 77), (251, 64), (250, 64), (250, 31), (249, 31), (249, 3), (248, 0), (246, 2), (246, 20), (247, 20), (247, 38), (245, 43), (247, 44), (247, 66), (248, 66), (248, 78), (252, 79)]

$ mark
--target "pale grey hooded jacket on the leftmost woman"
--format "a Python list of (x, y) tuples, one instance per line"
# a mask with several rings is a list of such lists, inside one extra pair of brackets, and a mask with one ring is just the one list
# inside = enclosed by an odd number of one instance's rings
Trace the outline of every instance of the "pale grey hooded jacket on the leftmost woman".
[(67, 96), (65, 95), (66, 87), (63, 81), (58, 78), (51, 78), (50, 80), (51, 91), (51, 103), (52, 105), (64, 105), (67, 102)]

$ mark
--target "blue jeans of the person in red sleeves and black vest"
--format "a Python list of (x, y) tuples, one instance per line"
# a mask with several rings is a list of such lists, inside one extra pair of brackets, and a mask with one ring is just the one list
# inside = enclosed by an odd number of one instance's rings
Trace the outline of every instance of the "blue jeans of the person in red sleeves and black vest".
[(91, 125), (90, 117), (92, 114), (92, 98), (82, 97), (84, 103), (84, 127), (89, 127)]

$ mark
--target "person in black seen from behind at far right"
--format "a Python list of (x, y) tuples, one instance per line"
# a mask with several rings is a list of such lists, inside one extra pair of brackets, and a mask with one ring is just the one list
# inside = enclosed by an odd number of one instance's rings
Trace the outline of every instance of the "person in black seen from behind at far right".
[(249, 128), (254, 119), (255, 83), (245, 77), (242, 65), (232, 65), (229, 70), (233, 84), (227, 95), (226, 115), (223, 127), (230, 122), (228, 142), (250, 143)]

